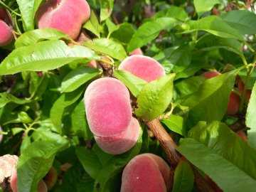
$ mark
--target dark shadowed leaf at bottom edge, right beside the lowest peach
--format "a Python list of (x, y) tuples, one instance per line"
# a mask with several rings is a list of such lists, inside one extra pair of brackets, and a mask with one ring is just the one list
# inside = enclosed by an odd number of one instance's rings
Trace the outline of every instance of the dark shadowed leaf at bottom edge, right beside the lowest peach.
[(187, 161), (180, 161), (174, 172), (172, 192), (191, 192), (193, 190), (194, 175)]

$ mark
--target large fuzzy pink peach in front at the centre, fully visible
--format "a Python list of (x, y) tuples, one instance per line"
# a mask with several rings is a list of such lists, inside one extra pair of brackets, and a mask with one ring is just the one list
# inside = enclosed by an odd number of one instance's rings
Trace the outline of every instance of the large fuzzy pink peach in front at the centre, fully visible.
[(129, 90), (114, 78), (100, 78), (87, 87), (85, 112), (90, 130), (97, 137), (124, 132), (132, 119)]

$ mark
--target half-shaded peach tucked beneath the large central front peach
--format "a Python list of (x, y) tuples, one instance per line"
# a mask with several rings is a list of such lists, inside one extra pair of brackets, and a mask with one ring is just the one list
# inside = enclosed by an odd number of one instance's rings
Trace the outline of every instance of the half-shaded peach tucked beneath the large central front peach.
[(123, 154), (136, 144), (139, 138), (140, 126), (137, 119), (132, 117), (127, 130), (114, 137), (97, 137), (95, 141), (108, 154)]

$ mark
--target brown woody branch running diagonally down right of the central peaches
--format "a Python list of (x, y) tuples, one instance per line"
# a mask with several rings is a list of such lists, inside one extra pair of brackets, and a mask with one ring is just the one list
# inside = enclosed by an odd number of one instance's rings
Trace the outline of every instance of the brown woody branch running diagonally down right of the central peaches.
[[(176, 151), (177, 145), (174, 142), (174, 139), (172, 139), (171, 136), (166, 132), (166, 129), (164, 129), (164, 127), (161, 125), (159, 119), (153, 119), (150, 122), (146, 122), (146, 124), (151, 132), (153, 132), (156, 139), (159, 140), (160, 145), (162, 146), (167, 155), (169, 164), (171, 165), (171, 169), (172, 171), (174, 171), (178, 164), (178, 161), (180, 161), (181, 159), (181, 156)], [(195, 174), (195, 181), (198, 187), (198, 191), (214, 192), (214, 189), (211, 188), (206, 179), (203, 178), (203, 176), (198, 172), (195, 167), (193, 167), (193, 171)]]

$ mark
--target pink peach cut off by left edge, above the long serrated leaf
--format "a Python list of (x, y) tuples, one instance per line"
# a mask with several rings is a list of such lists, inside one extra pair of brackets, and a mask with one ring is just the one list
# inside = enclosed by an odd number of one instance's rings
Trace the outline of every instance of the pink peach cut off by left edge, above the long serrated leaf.
[(7, 46), (13, 38), (11, 27), (0, 19), (0, 46)]

